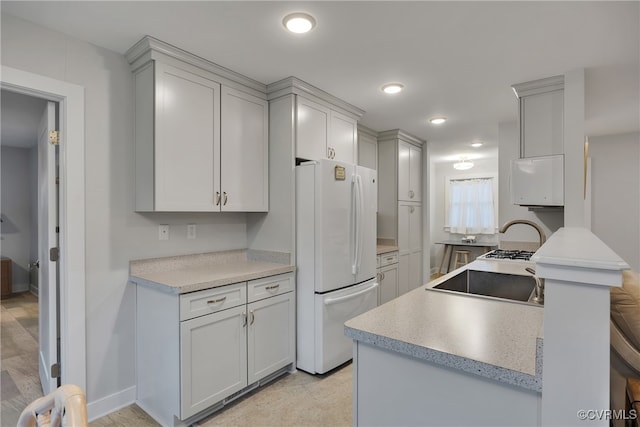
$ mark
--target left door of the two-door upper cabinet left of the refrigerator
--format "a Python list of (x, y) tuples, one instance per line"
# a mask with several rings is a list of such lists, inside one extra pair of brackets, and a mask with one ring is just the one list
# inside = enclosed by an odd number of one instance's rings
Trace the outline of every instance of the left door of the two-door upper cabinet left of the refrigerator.
[(155, 210), (219, 210), (220, 84), (155, 66)]

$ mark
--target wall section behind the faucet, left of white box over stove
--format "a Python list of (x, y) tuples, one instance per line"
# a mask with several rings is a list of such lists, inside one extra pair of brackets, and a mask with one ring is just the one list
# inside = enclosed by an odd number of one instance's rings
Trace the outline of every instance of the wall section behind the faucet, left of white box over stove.
[[(517, 105), (514, 104), (514, 108)], [(511, 160), (520, 156), (520, 138), (517, 122), (498, 124), (498, 144), (500, 151), (500, 209), (499, 223), (502, 225), (514, 219), (528, 219), (540, 225), (547, 237), (563, 226), (562, 211), (529, 211), (526, 207), (511, 204), (509, 180), (511, 176)], [(529, 226), (514, 225), (506, 233), (500, 235), (501, 241), (528, 242), (538, 244), (538, 233)]]

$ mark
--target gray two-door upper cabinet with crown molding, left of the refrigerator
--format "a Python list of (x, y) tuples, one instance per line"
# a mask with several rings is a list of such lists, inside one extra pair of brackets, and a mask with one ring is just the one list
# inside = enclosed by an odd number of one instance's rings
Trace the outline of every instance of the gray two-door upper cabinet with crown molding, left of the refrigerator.
[(267, 211), (266, 86), (150, 37), (127, 59), (136, 211)]

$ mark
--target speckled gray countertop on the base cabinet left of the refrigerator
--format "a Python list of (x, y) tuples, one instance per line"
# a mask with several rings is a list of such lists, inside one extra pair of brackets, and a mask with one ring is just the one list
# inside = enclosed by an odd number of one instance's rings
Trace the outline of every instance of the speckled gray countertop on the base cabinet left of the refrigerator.
[(174, 294), (295, 271), (283, 252), (238, 249), (195, 255), (134, 260), (130, 280)]

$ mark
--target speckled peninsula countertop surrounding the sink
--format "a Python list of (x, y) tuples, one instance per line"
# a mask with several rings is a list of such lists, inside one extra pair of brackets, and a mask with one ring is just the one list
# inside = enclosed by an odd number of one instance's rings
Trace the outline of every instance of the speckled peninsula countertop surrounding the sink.
[(474, 261), (345, 324), (347, 336), (530, 390), (542, 390), (543, 307), (429, 290), (465, 269), (524, 274), (526, 262)]

